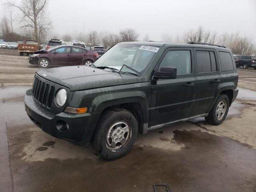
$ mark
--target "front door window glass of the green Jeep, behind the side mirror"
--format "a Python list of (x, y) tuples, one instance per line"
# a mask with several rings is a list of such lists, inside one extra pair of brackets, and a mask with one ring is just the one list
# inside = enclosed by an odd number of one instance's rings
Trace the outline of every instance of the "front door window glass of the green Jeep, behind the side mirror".
[(191, 54), (189, 50), (169, 51), (160, 63), (160, 67), (176, 67), (177, 75), (191, 73)]

